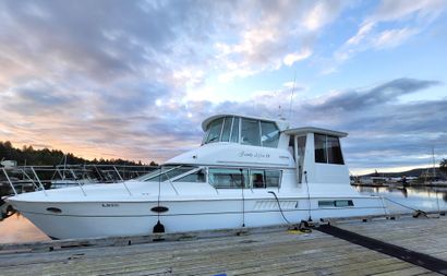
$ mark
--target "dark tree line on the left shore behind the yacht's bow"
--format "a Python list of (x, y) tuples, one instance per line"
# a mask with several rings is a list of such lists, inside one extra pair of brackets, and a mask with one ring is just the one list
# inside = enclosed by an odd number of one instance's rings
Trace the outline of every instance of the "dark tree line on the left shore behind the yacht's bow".
[[(67, 157), (65, 157), (67, 156)], [(84, 159), (82, 157), (77, 157), (73, 155), (72, 153), (63, 153), (62, 151), (59, 149), (49, 149), (49, 148), (43, 148), (43, 149), (34, 149), (33, 146), (24, 145), (21, 148), (15, 148), (10, 141), (7, 142), (0, 142), (0, 160), (15, 160), (17, 163), (17, 166), (24, 166), (24, 165), (29, 165), (29, 166), (56, 166), (56, 165), (61, 165), (65, 163), (67, 158), (67, 164), (85, 164), (85, 165), (128, 165), (128, 166), (142, 166), (146, 165), (143, 164), (141, 160), (137, 163), (131, 161), (131, 160), (124, 160), (121, 158), (118, 159)], [(150, 161), (148, 164), (150, 166), (156, 166), (157, 164), (154, 161)]]

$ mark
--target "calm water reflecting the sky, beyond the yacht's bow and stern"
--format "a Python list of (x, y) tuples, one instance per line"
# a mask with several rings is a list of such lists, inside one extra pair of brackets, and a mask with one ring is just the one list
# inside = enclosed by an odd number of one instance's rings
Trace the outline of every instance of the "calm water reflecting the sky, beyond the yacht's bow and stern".
[[(366, 195), (382, 195), (387, 207), (392, 213), (409, 213), (410, 208), (396, 203), (421, 211), (447, 211), (447, 188), (355, 188)], [(392, 202), (391, 202), (392, 201)], [(29, 220), (21, 215), (13, 215), (0, 221), (0, 243), (43, 241), (49, 238), (37, 229)]]

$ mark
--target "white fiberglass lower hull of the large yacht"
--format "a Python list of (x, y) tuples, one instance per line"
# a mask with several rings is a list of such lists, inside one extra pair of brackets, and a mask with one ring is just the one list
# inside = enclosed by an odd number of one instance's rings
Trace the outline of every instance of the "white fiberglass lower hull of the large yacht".
[[(346, 199), (346, 197), (343, 197)], [(318, 207), (321, 200), (336, 197), (279, 199), (286, 219), (292, 224), (329, 217), (380, 215), (385, 213), (380, 197), (359, 196), (350, 199), (354, 206)], [(33, 224), (56, 239), (136, 236), (153, 233), (159, 218), (166, 232), (183, 232), (239, 227), (262, 227), (287, 224), (271, 197), (220, 199), (160, 202), (166, 213), (152, 211), (155, 201), (146, 202), (25, 202), (10, 199)], [(60, 214), (48, 212), (60, 209)]]

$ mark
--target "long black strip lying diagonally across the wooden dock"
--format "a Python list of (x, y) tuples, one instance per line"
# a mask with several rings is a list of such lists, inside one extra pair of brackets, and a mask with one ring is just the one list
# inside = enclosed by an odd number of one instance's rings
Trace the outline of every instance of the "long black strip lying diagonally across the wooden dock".
[(366, 236), (351, 232), (331, 225), (321, 225), (316, 230), (336, 238), (387, 254), (432, 272), (447, 275), (447, 262), (427, 254), (404, 249)]

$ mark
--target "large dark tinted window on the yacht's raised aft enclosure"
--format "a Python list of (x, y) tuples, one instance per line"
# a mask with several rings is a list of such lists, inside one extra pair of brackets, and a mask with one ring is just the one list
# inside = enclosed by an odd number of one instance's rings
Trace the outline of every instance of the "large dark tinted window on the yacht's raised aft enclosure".
[(315, 163), (345, 164), (337, 136), (314, 134), (314, 142)]

